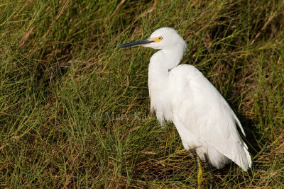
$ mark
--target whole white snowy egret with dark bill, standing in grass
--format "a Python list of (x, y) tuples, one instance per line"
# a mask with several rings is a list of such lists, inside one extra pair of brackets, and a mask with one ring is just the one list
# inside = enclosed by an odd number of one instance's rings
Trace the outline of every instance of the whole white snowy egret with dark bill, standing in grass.
[[(148, 88), (151, 112), (155, 110), (161, 125), (173, 122), (185, 149), (192, 149), (197, 161), (197, 188), (201, 187), (200, 159), (216, 168), (234, 161), (244, 171), (251, 167), (248, 147), (241, 139), (241, 122), (217, 89), (192, 65), (179, 65), (187, 43), (173, 28), (155, 30), (146, 40), (122, 47), (143, 46), (158, 49), (151, 57)], [(198, 158), (199, 157), (199, 158)], [(214, 175), (209, 168), (209, 188)]]

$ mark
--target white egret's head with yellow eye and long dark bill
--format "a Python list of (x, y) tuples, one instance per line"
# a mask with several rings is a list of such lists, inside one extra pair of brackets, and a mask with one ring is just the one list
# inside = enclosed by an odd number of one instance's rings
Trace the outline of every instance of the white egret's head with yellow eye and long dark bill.
[(159, 28), (158, 30), (155, 30), (148, 39), (129, 42), (124, 45), (120, 45), (118, 48), (135, 46), (151, 47), (159, 50), (175, 47), (182, 47), (184, 50), (187, 49), (187, 43), (173, 28)]

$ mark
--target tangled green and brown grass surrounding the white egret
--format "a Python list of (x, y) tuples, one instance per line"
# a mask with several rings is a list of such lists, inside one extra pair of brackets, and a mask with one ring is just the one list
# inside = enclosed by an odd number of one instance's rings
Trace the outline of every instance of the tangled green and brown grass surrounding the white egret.
[(283, 1), (120, 2), (1, 1), (0, 187), (195, 187), (174, 125), (149, 113), (155, 50), (115, 49), (168, 26), (246, 132), (253, 167), (214, 170), (217, 188), (284, 188)]

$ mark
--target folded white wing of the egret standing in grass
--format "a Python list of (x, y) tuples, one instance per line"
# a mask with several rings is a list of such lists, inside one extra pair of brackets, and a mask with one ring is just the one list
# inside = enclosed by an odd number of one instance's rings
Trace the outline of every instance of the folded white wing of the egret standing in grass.
[(241, 166), (251, 166), (246, 144), (236, 129), (239, 119), (217, 89), (193, 66), (180, 65), (170, 71), (173, 110), (179, 121), (200, 144), (214, 147)]

